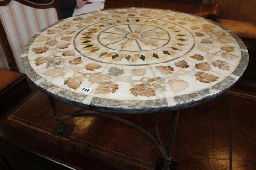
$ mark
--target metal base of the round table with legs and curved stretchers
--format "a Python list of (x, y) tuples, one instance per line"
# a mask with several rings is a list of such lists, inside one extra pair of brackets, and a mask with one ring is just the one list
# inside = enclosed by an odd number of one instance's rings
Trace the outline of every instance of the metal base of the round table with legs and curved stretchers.
[(171, 132), (170, 132), (169, 138), (168, 138), (168, 147), (167, 147), (167, 150), (165, 150), (165, 148), (162, 145), (159, 133), (158, 133), (159, 113), (157, 113), (157, 116), (156, 116), (155, 132), (156, 132), (157, 139), (155, 139), (152, 135), (150, 135), (147, 131), (145, 131), (140, 126), (138, 126), (128, 120), (119, 118), (117, 116), (113, 116), (111, 114), (84, 113), (84, 111), (86, 109), (79, 109), (77, 111), (74, 111), (73, 113), (59, 116), (56, 106), (55, 106), (55, 103), (54, 103), (54, 99), (52, 97), (49, 97), (49, 99), (50, 99), (51, 106), (52, 106), (52, 109), (54, 112), (54, 120), (57, 124), (55, 130), (52, 133), (53, 135), (61, 136), (63, 138), (69, 137), (69, 135), (71, 134), (71, 132), (74, 129), (74, 125), (61, 122), (62, 120), (66, 120), (69, 118), (95, 116), (95, 117), (101, 117), (101, 118), (107, 118), (107, 119), (119, 121), (121, 123), (124, 123), (128, 126), (135, 128), (139, 132), (146, 135), (156, 145), (156, 147), (159, 149), (159, 151), (162, 153), (163, 158), (158, 158), (155, 170), (178, 170), (178, 163), (171, 161), (171, 153), (172, 153), (172, 148), (173, 148), (173, 144), (174, 144), (174, 140), (175, 140), (175, 133), (176, 133), (176, 127), (177, 127), (177, 122), (178, 122), (178, 117), (179, 117), (179, 110), (173, 111), (173, 113), (172, 113)]

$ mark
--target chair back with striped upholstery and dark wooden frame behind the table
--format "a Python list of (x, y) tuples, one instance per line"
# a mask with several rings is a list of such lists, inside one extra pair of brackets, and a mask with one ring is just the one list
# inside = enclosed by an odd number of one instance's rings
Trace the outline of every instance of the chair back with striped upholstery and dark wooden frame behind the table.
[(23, 72), (20, 53), (36, 32), (60, 19), (57, 0), (0, 0), (0, 44), (11, 69)]

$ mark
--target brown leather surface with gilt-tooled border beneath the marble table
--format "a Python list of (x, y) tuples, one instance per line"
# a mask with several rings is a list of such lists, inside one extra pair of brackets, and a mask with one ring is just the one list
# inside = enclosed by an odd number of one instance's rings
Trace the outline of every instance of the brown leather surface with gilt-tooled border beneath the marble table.
[[(60, 101), (56, 103), (60, 114), (77, 109)], [(182, 110), (173, 151), (179, 170), (229, 170), (231, 166), (233, 170), (255, 170), (255, 110), (256, 94), (234, 89), (200, 106)], [(117, 116), (135, 122), (155, 136), (156, 114)], [(159, 130), (164, 145), (170, 119), (171, 113), (160, 114)], [(95, 117), (68, 122), (76, 125), (70, 139), (51, 135), (55, 123), (48, 98), (40, 91), (34, 91), (0, 120), (0, 124), (123, 169), (154, 170), (156, 159), (161, 157), (149, 139), (119, 122)], [(72, 165), (72, 159), (77, 158), (68, 157), (67, 164)]]

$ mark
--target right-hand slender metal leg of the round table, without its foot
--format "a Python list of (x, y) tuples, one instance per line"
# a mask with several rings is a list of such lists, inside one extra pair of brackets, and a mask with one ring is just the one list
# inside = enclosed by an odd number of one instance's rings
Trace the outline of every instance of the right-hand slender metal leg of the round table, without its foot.
[(173, 112), (172, 124), (171, 124), (171, 132), (168, 140), (168, 148), (166, 155), (164, 157), (164, 166), (163, 170), (170, 170), (171, 157), (172, 157), (172, 148), (175, 140), (176, 127), (179, 117), (179, 110)]

